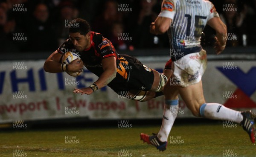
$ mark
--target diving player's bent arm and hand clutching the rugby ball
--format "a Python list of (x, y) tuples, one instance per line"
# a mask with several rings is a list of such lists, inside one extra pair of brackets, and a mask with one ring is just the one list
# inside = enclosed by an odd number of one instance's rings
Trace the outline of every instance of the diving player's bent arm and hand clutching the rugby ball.
[[(63, 72), (61, 69), (61, 54), (58, 51), (54, 51), (44, 62), (44, 71), (48, 73), (61, 73)], [(76, 59), (68, 64), (68, 70), (71, 72), (81, 72), (83, 68), (83, 61), (79, 61)]]

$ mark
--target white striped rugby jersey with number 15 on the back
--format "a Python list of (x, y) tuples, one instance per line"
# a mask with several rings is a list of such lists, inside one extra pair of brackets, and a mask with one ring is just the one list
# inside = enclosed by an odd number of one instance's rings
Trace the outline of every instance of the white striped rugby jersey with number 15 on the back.
[[(158, 16), (172, 19), (168, 30), (171, 49), (181, 49), (185, 55), (202, 49), (201, 33), (207, 21), (219, 17), (214, 5), (208, 0), (163, 0)], [(172, 59), (181, 57), (176, 55)]]

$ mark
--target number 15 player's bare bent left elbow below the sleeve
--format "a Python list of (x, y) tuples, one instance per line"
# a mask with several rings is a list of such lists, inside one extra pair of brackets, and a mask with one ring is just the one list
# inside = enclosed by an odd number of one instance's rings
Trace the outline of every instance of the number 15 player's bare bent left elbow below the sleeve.
[(168, 17), (157, 17), (150, 25), (150, 32), (155, 35), (163, 34), (170, 28), (171, 22), (172, 19)]

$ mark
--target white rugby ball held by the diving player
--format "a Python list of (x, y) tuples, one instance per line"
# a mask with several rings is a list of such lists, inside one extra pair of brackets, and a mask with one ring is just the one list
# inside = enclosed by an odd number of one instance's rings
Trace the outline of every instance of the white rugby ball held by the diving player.
[[(62, 56), (62, 63), (63, 64), (70, 64), (71, 61), (75, 60), (79, 58), (81, 60), (81, 58), (79, 57), (79, 55), (77, 55), (76, 53), (73, 53), (73, 52), (66, 52), (63, 54)], [(79, 63), (80, 61), (78, 61)], [(83, 71), (83, 69), (82, 69)], [(77, 77), (77, 76), (80, 76), (82, 72), (70, 72), (70, 71), (66, 71), (67, 74), (69, 74), (70, 76), (73, 76), (73, 77)]]

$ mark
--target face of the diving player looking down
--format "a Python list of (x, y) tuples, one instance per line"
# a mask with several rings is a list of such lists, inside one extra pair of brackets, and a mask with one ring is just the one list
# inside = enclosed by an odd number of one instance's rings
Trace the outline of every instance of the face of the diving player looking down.
[(70, 33), (70, 39), (79, 52), (90, 47), (90, 32), (86, 35), (81, 35), (79, 32)]

